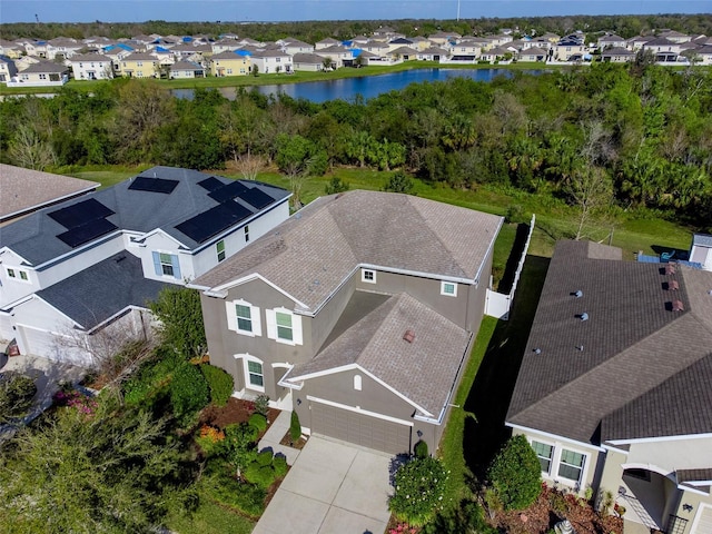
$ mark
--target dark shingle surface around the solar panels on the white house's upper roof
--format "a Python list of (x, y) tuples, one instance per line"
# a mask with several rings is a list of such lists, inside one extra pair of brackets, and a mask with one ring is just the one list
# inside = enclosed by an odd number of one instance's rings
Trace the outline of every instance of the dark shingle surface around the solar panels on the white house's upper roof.
[[(68, 206), (93, 199), (113, 211), (112, 215), (106, 217), (107, 221), (117, 227), (113, 231), (132, 230), (148, 233), (160, 228), (187, 248), (195, 249), (206, 243), (206, 239), (201, 239), (201, 241), (198, 243), (190, 236), (178, 230), (176, 227), (181, 222), (192, 219), (219, 205), (234, 206), (235, 204), (241, 207), (241, 212), (244, 212), (244, 210), (249, 211), (249, 215), (244, 219), (249, 220), (254, 214), (270, 209), (274, 204), (283, 201), (289, 196), (289, 191), (278, 187), (258, 181), (238, 180), (244, 184), (247, 189), (257, 189), (268, 195), (274, 199), (274, 202), (261, 208), (255, 208), (240, 198), (227, 200), (220, 198), (220, 200), (216, 200), (209, 196), (211, 189), (199, 185), (199, 182), (210, 176), (215, 178), (215, 180), (210, 180), (212, 185), (219, 182), (218, 185), (221, 186), (235, 184), (236, 181), (225, 177), (206, 175), (196, 170), (176, 167), (154, 167), (113, 187), (42, 209), (2, 227), (2, 229), (0, 229), (0, 247), (9, 247), (31, 265), (36, 266), (70, 253), (72, 247), (57, 237), (67, 233), (69, 228), (50, 217), (50, 214), (67, 208)], [(176, 180), (177, 184), (170, 192), (147, 191), (136, 189), (136, 179), (140, 177)], [(109, 227), (109, 225), (107, 225), (107, 227)], [(98, 238), (107, 235), (110, 235), (110, 233), (103, 234)], [(209, 243), (211, 237), (212, 235), (207, 237), (207, 243)], [(77, 246), (75, 246), (75, 248), (77, 248)]]

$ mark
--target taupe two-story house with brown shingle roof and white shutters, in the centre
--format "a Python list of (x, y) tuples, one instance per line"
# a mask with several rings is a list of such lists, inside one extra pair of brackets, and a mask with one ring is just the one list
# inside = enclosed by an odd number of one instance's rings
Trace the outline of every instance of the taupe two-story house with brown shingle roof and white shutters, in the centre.
[(484, 313), (502, 218), (418, 197), (319, 198), (191, 287), (236, 394), (304, 432), (438, 446)]

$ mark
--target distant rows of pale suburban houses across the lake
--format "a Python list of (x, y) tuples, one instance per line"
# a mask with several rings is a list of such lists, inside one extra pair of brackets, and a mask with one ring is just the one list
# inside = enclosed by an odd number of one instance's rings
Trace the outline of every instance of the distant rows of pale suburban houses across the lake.
[(48, 41), (0, 39), (0, 82), (8, 87), (61, 86), (70, 79), (102, 80), (117, 77), (186, 79), (250, 73), (329, 71), (369, 65), (395, 66), (405, 61), (442, 65), (538, 62), (546, 65), (592, 61), (630, 62), (647, 52), (660, 65), (712, 65), (712, 37), (661, 29), (624, 39), (606, 32), (596, 41), (583, 31), (521, 34), (502, 29), (485, 37), (438, 31), (406, 37), (382, 27), (370, 36), (346, 40), (326, 38), (308, 43), (293, 37), (261, 42), (226, 33), (197, 36), (138, 34), (130, 39), (58, 37)]

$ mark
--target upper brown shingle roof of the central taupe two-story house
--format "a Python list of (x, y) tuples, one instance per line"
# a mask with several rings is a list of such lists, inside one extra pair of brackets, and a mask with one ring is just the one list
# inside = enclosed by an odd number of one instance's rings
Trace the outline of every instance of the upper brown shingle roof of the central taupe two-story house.
[(307, 205), (195, 285), (257, 273), (316, 310), (359, 264), (472, 284), (501, 225), (502, 217), (409, 195), (347, 191)]

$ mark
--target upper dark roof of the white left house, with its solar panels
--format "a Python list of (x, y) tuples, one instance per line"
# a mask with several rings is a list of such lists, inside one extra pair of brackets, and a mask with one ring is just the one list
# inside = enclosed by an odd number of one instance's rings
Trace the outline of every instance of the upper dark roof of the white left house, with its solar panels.
[[(154, 184), (151, 180), (156, 178), (160, 180), (156, 181), (158, 185), (175, 187), (170, 192), (146, 190), (144, 186), (148, 184), (150, 187), (150, 184)], [(207, 185), (205, 180), (211, 188), (217, 189), (226, 185), (229, 187), (217, 190), (207, 189), (200, 185), (200, 182)], [(257, 192), (253, 192), (255, 190)], [(245, 191), (249, 191), (247, 196)], [(68, 231), (68, 227), (52, 218), (52, 215), (58, 209), (91, 200), (92, 204), (100, 205), (101, 209), (96, 212), (99, 218), (110, 224), (107, 228), (111, 233), (120, 230), (148, 233), (160, 228), (186, 247), (196, 249), (239, 220), (248, 220), (253, 215), (268, 209), (288, 196), (289, 192), (285, 189), (258, 181), (230, 180), (175, 167), (152, 167), (113, 187), (46, 208), (3, 227), (0, 247), (11, 248), (32, 265), (40, 265), (75, 250), (77, 247), (69, 246), (59, 237)], [(250, 201), (261, 207), (256, 208), (243, 197), (249, 197)], [(263, 202), (267, 204), (263, 206)], [(87, 208), (91, 207), (82, 205), (78, 209), (87, 211)], [(96, 204), (93, 207), (97, 208)], [(111, 214), (105, 216), (103, 214), (108, 211)], [(210, 235), (212, 230), (217, 231)], [(105, 235), (108, 235), (108, 231), (98, 237)]]

